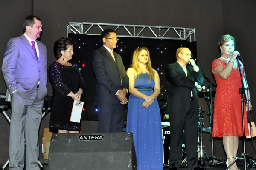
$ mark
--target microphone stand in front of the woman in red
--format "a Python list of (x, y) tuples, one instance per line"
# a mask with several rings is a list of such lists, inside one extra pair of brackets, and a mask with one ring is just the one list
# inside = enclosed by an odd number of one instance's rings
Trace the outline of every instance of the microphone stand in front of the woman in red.
[[(237, 56), (237, 66), (239, 67), (239, 72), (240, 72), (240, 78), (241, 78), (241, 82), (242, 82), (242, 87), (239, 88), (239, 94), (241, 94), (241, 107), (242, 107), (242, 121), (243, 121), (243, 149), (244, 149), (244, 152), (241, 153), (241, 155), (235, 160), (233, 161), (228, 167), (226, 170), (228, 170), (236, 161), (239, 160), (239, 158), (241, 158), (242, 156), (244, 156), (244, 170), (247, 170), (247, 167), (246, 167), (246, 156), (247, 156), (247, 153), (246, 153), (246, 150), (245, 150), (245, 131), (244, 131), (244, 102), (245, 104), (247, 105), (247, 100), (246, 100), (246, 95), (244, 95), (245, 93), (245, 88), (244, 88), (244, 82), (243, 82), (243, 78), (242, 78), (242, 73), (241, 73), (241, 65), (240, 65), (240, 62), (239, 62), (239, 56)], [(255, 167), (255, 163), (250, 160), (250, 164), (253, 165), (253, 167)], [(249, 164), (248, 164), (249, 166)], [(253, 169), (253, 168), (252, 168)]]

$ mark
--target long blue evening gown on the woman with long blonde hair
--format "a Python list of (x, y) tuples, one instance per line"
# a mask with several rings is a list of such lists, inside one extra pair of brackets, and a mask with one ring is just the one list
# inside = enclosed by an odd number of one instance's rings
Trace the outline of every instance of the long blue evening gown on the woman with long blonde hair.
[[(151, 95), (154, 80), (148, 83), (149, 74), (141, 73), (134, 87), (145, 95)], [(134, 134), (134, 145), (139, 170), (163, 170), (163, 143), (161, 114), (157, 99), (148, 108), (142, 107), (144, 99), (130, 94), (128, 103), (127, 132)]]

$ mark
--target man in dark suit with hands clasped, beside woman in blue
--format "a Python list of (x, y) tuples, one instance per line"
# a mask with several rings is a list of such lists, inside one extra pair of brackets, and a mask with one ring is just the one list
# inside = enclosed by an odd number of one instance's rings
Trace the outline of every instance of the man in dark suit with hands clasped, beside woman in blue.
[(129, 78), (121, 56), (113, 52), (118, 41), (116, 32), (106, 29), (101, 38), (103, 46), (93, 52), (92, 61), (97, 79), (98, 132), (122, 132)]

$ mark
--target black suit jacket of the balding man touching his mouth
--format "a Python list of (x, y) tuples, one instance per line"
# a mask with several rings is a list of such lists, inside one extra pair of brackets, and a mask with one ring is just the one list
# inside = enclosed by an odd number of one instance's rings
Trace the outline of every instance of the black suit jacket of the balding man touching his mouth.
[(167, 112), (180, 113), (189, 108), (191, 91), (194, 97), (194, 106), (199, 109), (195, 82), (204, 85), (201, 71), (195, 72), (193, 67), (187, 66), (187, 77), (183, 68), (176, 61), (166, 65), (165, 73), (168, 88)]

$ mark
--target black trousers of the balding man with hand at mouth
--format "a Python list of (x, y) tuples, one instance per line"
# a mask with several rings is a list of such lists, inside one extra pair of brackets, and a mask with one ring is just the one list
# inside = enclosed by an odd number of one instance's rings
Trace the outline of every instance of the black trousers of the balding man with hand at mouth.
[(198, 166), (198, 113), (199, 108), (195, 108), (193, 100), (190, 100), (189, 108), (185, 108), (183, 113), (169, 113), (171, 135), (170, 166), (179, 168), (182, 163), (183, 130), (185, 130), (188, 169)]

